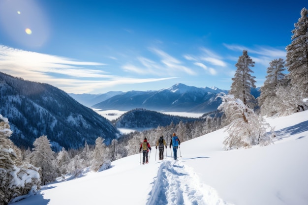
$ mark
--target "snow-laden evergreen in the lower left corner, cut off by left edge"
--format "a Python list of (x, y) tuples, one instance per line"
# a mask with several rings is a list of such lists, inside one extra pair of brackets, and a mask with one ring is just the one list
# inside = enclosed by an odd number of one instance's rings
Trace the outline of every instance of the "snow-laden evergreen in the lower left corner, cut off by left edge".
[(0, 205), (35, 194), (40, 184), (38, 168), (22, 165), (21, 151), (9, 140), (11, 134), (8, 119), (0, 115)]

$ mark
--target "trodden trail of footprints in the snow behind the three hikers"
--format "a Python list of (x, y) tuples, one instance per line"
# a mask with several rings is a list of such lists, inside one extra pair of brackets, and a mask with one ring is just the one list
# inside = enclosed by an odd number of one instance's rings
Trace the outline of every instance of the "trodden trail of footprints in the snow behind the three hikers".
[(154, 179), (147, 205), (231, 205), (215, 189), (200, 184), (189, 167), (179, 161), (164, 161)]

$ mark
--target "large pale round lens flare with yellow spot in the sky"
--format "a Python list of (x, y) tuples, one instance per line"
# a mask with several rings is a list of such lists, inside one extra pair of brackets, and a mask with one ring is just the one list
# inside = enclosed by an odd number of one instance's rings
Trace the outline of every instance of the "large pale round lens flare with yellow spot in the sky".
[[(0, 33), (16, 44), (37, 48), (49, 38), (46, 12), (38, 0), (0, 0)], [(0, 41), (1, 41), (0, 40)]]

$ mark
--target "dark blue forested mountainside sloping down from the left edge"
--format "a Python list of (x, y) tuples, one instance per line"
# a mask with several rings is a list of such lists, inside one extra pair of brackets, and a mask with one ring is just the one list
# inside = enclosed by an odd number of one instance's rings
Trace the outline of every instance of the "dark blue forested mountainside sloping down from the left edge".
[(119, 131), (106, 118), (87, 108), (64, 91), (48, 84), (25, 81), (0, 72), (0, 114), (9, 119), (11, 140), (31, 147), (47, 135), (54, 148), (78, 148), (97, 137), (109, 144)]

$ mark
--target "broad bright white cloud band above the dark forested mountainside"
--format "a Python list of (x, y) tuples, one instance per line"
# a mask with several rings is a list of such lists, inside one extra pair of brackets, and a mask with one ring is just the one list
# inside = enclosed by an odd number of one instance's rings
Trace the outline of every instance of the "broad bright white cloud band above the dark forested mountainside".
[[(91, 93), (94, 90), (114, 85), (147, 83), (174, 78), (126, 78), (110, 75), (102, 70), (102, 67), (106, 66), (108, 65), (100, 62), (79, 61), (0, 45), (1, 72), (22, 77), (25, 80), (48, 83), (66, 92)], [(133, 67), (127, 69), (133, 70)]]

